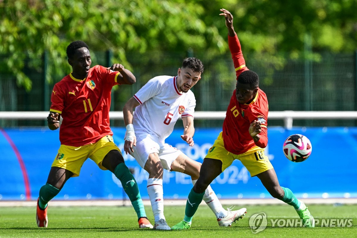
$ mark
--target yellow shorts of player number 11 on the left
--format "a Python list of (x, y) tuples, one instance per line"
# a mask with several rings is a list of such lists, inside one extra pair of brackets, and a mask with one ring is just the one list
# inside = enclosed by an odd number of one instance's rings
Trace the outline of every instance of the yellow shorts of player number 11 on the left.
[(109, 151), (119, 148), (115, 145), (112, 136), (104, 136), (94, 144), (89, 144), (80, 147), (61, 145), (57, 156), (51, 167), (60, 167), (67, 169), (73, 173), (72, 177), (79, 176), (84, 161), (90, 158), (99, 168), (107, 170), (102, 166), (102, 161)]

